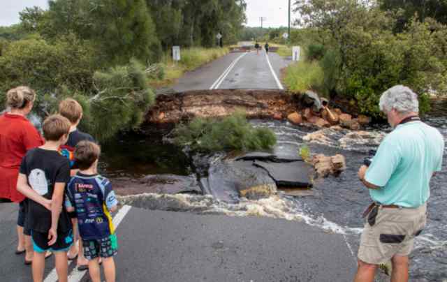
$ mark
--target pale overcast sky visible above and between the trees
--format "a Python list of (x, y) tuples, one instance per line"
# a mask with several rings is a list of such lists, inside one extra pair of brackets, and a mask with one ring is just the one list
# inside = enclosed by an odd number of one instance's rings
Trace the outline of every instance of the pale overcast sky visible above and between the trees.
[[(288, 0), (246, 0), (247, 26), (260, 27), (259, 17), (267, 17), (263, 27), (287, 26)], [(293, 1), (292, 1), (293, 2)], [(19, 22), (19, 12), (25, 7), (48, 8), (47, 0), (0, 0), (0, 26)], [(292, 17), (293, 20), (293, 17)]]

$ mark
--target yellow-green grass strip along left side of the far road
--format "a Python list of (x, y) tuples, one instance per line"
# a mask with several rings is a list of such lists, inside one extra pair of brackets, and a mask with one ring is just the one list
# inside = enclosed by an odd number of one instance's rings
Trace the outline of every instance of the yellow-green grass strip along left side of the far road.
[(191, 47), (180, 51), (181, 60), (173, 61), (170, 52), (167, 52), (161, 60), (164, 68), (164, 77), (162, 80), (152, 80), (149, 84), (152, 87), (167, 87), (175, 84), (179, 77), (182, 77), (187, 71), (193, 71), (204, 64), (214, 61), (230, 52), (228, 47), (223, 48), (203, 48)]

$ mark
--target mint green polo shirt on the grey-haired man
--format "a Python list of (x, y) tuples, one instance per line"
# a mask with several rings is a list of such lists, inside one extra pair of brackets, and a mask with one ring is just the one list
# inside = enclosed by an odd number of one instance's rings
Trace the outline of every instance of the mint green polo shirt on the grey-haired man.
[(401, 124), (381, 142), (365, 180), (372, 200), (383, 205), (419, 207), (430, 198), (430, 179), (441, 171), (444, 138), (421, 121)]

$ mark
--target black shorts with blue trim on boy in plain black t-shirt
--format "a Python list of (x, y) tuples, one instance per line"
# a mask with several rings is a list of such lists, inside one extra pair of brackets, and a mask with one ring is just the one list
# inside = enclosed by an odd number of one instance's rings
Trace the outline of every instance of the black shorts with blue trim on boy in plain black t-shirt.
[(31, 239), (33, 240), (33, 248), (37, 253), (44, 253), (45, 251), (68, 251), (73, 244), (73, 234), (70, 231), (66, 233), (58, 233), (57, 240), (51, 246), (48, 245), (48, 232), (31, 231)]

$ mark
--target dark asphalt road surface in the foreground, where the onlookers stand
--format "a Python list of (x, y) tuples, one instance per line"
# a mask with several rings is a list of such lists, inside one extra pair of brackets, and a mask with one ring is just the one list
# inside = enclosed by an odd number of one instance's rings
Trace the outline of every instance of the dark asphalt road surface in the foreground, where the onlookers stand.
[[(0, 277), (31, 281), (31, 268), (13, 253), (15, 211), (0, 204)], [(132, 207), (117, 236), (117, 281), (334, 282), (351, 281), (356, 269), (342, 235), (295, 221)], [(45, 276), (53, 266), (50, 258)], [(71, 281), (89, 281), (87, 273), (76, 278), (73, 266)]]

